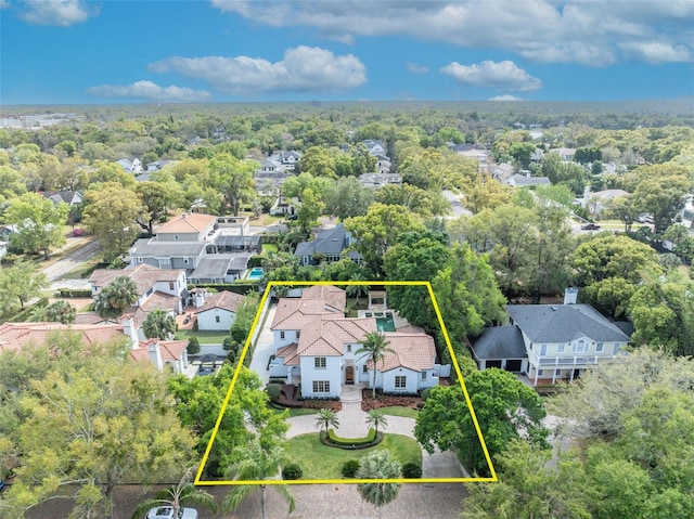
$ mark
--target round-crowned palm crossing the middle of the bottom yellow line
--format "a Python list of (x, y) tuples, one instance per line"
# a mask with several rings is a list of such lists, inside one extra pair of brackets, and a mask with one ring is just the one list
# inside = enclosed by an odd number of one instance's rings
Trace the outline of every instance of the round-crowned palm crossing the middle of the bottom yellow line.
[[(388, 451), (375, 451), (361, 458), (361, 467), (357, 472), (358, 479), (396, 479), (400, 478), (400, 464), (390, 459)], [(361, 498), (378, 508), (378, 519), (381, 519), (381, 508), (398, 496), (400, 483), (386, 483), (383, 481), (373, 483), (359, 483), (357, 485)]]

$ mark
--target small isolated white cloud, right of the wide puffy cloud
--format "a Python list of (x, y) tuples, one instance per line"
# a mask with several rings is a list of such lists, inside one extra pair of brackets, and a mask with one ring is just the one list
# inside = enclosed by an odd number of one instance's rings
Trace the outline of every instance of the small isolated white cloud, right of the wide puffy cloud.
[(468, 87), (491, 87), (499, 90), (528, 92), (542, 87), (542, 81), (518, 68), (511, 61), (492, 62), (486, 60), (479, 64), (461, 65), (458, 62), (441, 67), (444, 74)]

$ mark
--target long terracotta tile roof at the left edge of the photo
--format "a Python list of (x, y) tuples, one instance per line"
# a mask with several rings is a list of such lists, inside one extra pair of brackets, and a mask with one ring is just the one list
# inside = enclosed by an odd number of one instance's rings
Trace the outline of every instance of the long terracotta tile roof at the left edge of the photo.
[(44, 345), (52, 333), (79, 333), (87, 345), (125, 337), (119, 324), (4, 323), (0, 325), (0, 351), (18, 350), (26, 345)]

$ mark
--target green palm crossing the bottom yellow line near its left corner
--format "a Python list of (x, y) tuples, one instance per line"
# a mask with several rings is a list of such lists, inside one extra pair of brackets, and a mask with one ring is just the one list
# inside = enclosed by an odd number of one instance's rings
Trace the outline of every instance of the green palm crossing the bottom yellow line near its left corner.
[[(226, 476), (233, 477), (236, 480), (262, 481), (275, 476), (280, 471), (283, 457), (284, 449), (282, 446), (272, 445), (266, 450), (260, 445), (259, 441), (255, 441), (247, 449), (242, 460), (233, 465)], [(221, 508), (224, 511), (235, 511), (243, 499), (260, 489), (260, 512), (261, 518), (266, 519), (266, 488), (267, 484), (234, 486), (222, 501)], [(290, 489), (282, 484), (273, 484), (272, 488), (286, 499), (290, 504), (290, 514), (292, 514), (296, 502)]]

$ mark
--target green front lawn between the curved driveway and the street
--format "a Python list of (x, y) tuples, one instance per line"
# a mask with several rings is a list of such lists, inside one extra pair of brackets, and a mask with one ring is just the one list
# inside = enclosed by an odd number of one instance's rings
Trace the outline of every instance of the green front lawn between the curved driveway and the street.
[[(387, 449), (390, 455), (406, 464), (414, 462), (422, 465), (422, 447), (412, 438), (401, 434), (389, 434), (376, 446), (345, 451), (323, 445), (318, 439), (318, 432), (300, 434), (287, 441), (287, 457), (304, 470), (301, 479), (343, 479), (342, 466), (349, 459), (360, 459), (370, 452)], [(348, 480), (347, 480), (348, 481)]]

